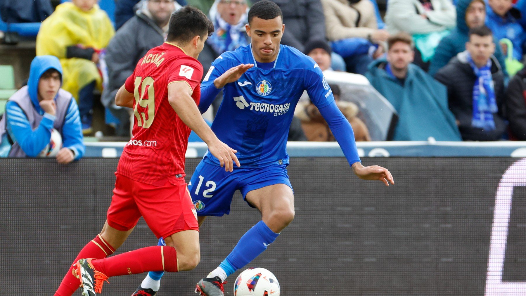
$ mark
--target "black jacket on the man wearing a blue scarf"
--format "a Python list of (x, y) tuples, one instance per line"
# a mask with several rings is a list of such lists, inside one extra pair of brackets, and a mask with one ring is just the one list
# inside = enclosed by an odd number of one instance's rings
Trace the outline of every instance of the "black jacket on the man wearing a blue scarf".
[(495, 100), (499, 111), (493, 114), (495, 130), (483, 130), (472, 127), (473, 117), (473, 85), (477, 77), (468, 64), (468, 52), (462, 52), (454, 57), (446, 67), (443, 67), (434, 76), (440, 83), (448, 88), (449, 109), (459, 122), (459, 130), (464, 140), (497, 141), (501, 139), (506, 124), (504, 122), (504, 73), (497, 59), (491, 57), (491, 73), (495, 87)]

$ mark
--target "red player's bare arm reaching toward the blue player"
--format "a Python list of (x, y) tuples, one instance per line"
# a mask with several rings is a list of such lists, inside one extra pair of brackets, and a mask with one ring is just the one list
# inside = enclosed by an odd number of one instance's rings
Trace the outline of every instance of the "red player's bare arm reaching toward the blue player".
[(219, 159), (219, 163), (225, 166), (226, 171), (232, 171), (234, 162), (239, 167), (234, 150), (224, 142), (221, 142), (199, 113), (194, 99), (191, 97), (193, 89), (186, 81), (173, 81), (168, 84), (168, 102), (183, 122), (208, 145), (208, 150)]

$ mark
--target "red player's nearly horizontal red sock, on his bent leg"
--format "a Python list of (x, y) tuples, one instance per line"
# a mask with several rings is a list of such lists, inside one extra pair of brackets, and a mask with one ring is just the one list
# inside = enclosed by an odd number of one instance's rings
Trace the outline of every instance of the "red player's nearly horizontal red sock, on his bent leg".
[(178, 271), (177, 252), (175, 248), (166, 246), (146, 247), (109, 258), (92, 260), (91, 264), (95, 270), (107, 277), (145, 271)]

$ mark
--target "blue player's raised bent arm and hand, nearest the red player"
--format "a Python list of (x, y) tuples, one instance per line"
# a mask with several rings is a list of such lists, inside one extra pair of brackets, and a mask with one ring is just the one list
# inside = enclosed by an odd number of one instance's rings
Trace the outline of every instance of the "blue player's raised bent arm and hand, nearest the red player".
[(201, 84), (201, 99), (199, 111), (205, 113), (210, 107), (219, 91), (228, 83), (237, 81), (243, 73), (247, 72), (254, 64), (240, 64), (226, 71), (218, 64), (212, 64)]

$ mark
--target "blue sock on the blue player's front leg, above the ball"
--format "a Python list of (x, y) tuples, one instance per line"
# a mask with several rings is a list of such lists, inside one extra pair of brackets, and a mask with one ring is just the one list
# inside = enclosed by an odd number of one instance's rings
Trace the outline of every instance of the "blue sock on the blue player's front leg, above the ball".
[(278, 236), (279, 233), (274, 233), (265, 222), (259, 221), (239, 239), (234, 250), (228, 254), (219, 267), (226, 272), (227, 276), (234, 273), (258, 257)]

